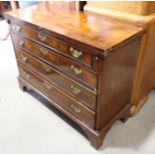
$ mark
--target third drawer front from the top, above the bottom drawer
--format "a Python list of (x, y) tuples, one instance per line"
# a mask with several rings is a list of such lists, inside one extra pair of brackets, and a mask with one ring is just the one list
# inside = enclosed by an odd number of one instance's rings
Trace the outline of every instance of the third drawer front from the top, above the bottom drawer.
[(25, 54), (24, 52), (16, 49), (17, 60), (26, 65), (31, 70), (38, 72), (42, 77), (48, 81), (54, 83), (57, 87), (66, 91), (72, 97), (78, 99), (80, 102), (95, 110), (96, 108), (96, 98), (97, 95), (82, 87), (78, 83), (69, 80), (67, 77), (63, 76), (61, 73), (58, 73), (51, 66), (33, 58), (30, 55)]

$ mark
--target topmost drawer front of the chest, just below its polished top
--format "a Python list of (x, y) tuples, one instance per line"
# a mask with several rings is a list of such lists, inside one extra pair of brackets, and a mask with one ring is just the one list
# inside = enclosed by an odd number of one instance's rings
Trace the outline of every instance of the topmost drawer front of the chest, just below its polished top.
[(71, 57), (76, 61), (82, 62), (88, 66), (91, 66), (92, 64), (92, 56), (90, 54), (87, 54), (79, 49), (76, 49), (67, 43), (64, 43), (58, 39), (49, 37), (25, 25), (12, 24), (11, 28), (14, 32), (23, 34), (26, 37), (29, 37), (33, 40), (36, 40), (45, 45), (48, 45), (58, 50), (60, 53), (65, 54), (66, 56)]

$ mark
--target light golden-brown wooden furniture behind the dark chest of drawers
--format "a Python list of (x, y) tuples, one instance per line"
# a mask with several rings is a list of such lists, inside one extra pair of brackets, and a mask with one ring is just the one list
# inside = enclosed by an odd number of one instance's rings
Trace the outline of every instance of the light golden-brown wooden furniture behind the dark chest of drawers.
[(155, 73), (153, 72), (155, 68), (155, 2), (88, 2), (85, 10), (146, 28), (146, 34), (141, 42), (130, 101), (133, 105), (131, 108), (131, 116), (133, 116), (143, 107), (149, 93), (155, 88)]

